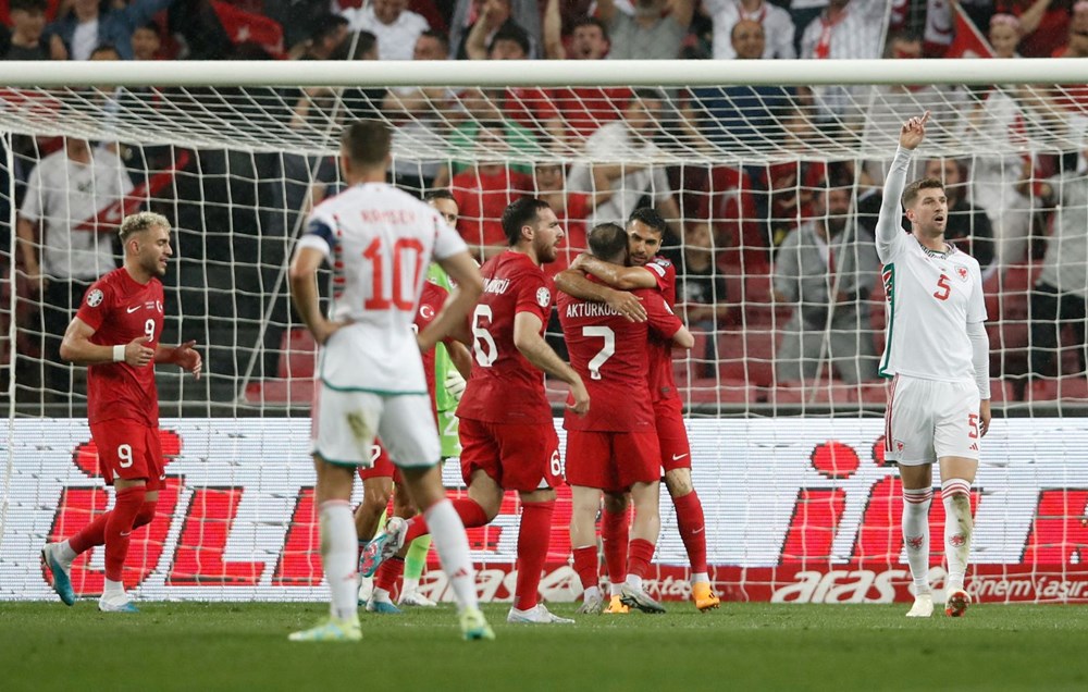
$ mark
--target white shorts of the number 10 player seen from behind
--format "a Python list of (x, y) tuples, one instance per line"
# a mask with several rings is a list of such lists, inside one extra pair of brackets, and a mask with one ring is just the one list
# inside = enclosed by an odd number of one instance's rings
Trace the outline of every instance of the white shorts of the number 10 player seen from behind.
[(440, 461), (438, 430), (426, 394), (383, 395), (318, 384), (310, 437), (313, 454), (325, 461), (370, 468), (375, 436), (398, 467)]

